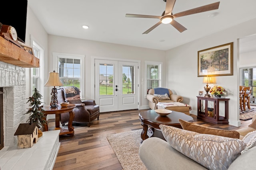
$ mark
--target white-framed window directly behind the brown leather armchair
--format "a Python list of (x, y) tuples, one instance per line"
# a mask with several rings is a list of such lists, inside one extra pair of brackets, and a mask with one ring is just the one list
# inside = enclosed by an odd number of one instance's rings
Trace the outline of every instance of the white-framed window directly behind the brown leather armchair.
[(54, 53), (54, 65), (63, 86), (76, 86), (84, 92), (84, 55)]

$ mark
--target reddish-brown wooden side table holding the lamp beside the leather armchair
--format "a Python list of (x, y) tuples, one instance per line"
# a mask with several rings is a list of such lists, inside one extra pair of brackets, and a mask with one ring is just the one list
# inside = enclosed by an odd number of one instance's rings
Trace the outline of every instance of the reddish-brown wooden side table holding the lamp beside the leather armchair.
[[(74, 107), (76, 107), (75, 104), (68, 104), (68, 107), (61, 107), (58, 104), (58, 107), (56, 108), (51, 108), (50, 106), (44, 106), (43, 109), (44, 111), (42, 111), (44, 113), (45, 116), (47, 115), (51, 115), (51, 114), (55, 114), (55, 129), (60, 129), (60, 135), (70, 135), (70, 136), (74, 136), (74, 127), (72, 126), (72, 121), (75, 117), (75, 113), (73, 111)], [(60, 127), (60, 114), (61, 113), (66, 113), (69, 112), (69, 121), (68, 121), (68, 129), (64, 129)], [(44, 124), (44, 131), (48, 131), (48, 124), (47, 121)]]

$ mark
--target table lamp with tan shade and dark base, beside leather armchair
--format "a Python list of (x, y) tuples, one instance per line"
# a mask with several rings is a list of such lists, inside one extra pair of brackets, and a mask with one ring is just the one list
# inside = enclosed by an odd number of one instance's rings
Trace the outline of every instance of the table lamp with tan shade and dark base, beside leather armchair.
[(49, 78), (46, 82), (46, 84), (44, 84), (44, 86), (54, 86), (54, 88), (52, 88), (52, 100), (50, 103), (50, 107), (52, 108), (56, 108), (58, 107), (58, 100), (57, 100), (57, 88), (55, 88), (55, 86), (63, 86), (62, 82), (60, 81), (60, 76), (58, 72), (55, 72), (55, 70), (53, 70), (53, 72), (49, 72)]

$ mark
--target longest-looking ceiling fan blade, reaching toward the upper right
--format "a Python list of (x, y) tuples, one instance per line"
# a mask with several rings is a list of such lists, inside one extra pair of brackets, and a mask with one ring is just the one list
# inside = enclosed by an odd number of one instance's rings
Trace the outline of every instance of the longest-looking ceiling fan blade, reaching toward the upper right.
[(182, 17), (182, 16), (188, 16), (188, 15), (191, 15), (191, 14), (197, 14), (197, 13), (200, 13), (200, 12), (217, 10), (219, 8), (219, 4), (220, 4), (220, 2), (215, 2), (215, 3), (212, 3), (212, 4), (205, 5), (205, 6), (200, 6), (198, 8), (194, 8), (194, 9), (191, 9), (191, 10), (179, 12), (177, 14), (174, 14), (173, 16), (174, 16), (174, 18), (177, 18), (177, 17)]

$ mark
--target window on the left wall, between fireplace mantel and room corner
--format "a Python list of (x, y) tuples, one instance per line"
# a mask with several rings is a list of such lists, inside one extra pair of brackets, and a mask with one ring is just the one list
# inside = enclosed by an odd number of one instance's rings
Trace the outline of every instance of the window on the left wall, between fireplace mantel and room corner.
[(31, 77), (32, 77), (32, 85), (31, 85), (31, 93), (33, 94), (33, 90), (36, 88), (40, 94), (44, 94), (43, 90), (43, 61), (44, 61), (44, 50), (40, 45), (38, 45), (35, 41), (32, 41), (32, 47), (34, 50), (34, 55), (40, 60), (39, 68), (31, 68)]

